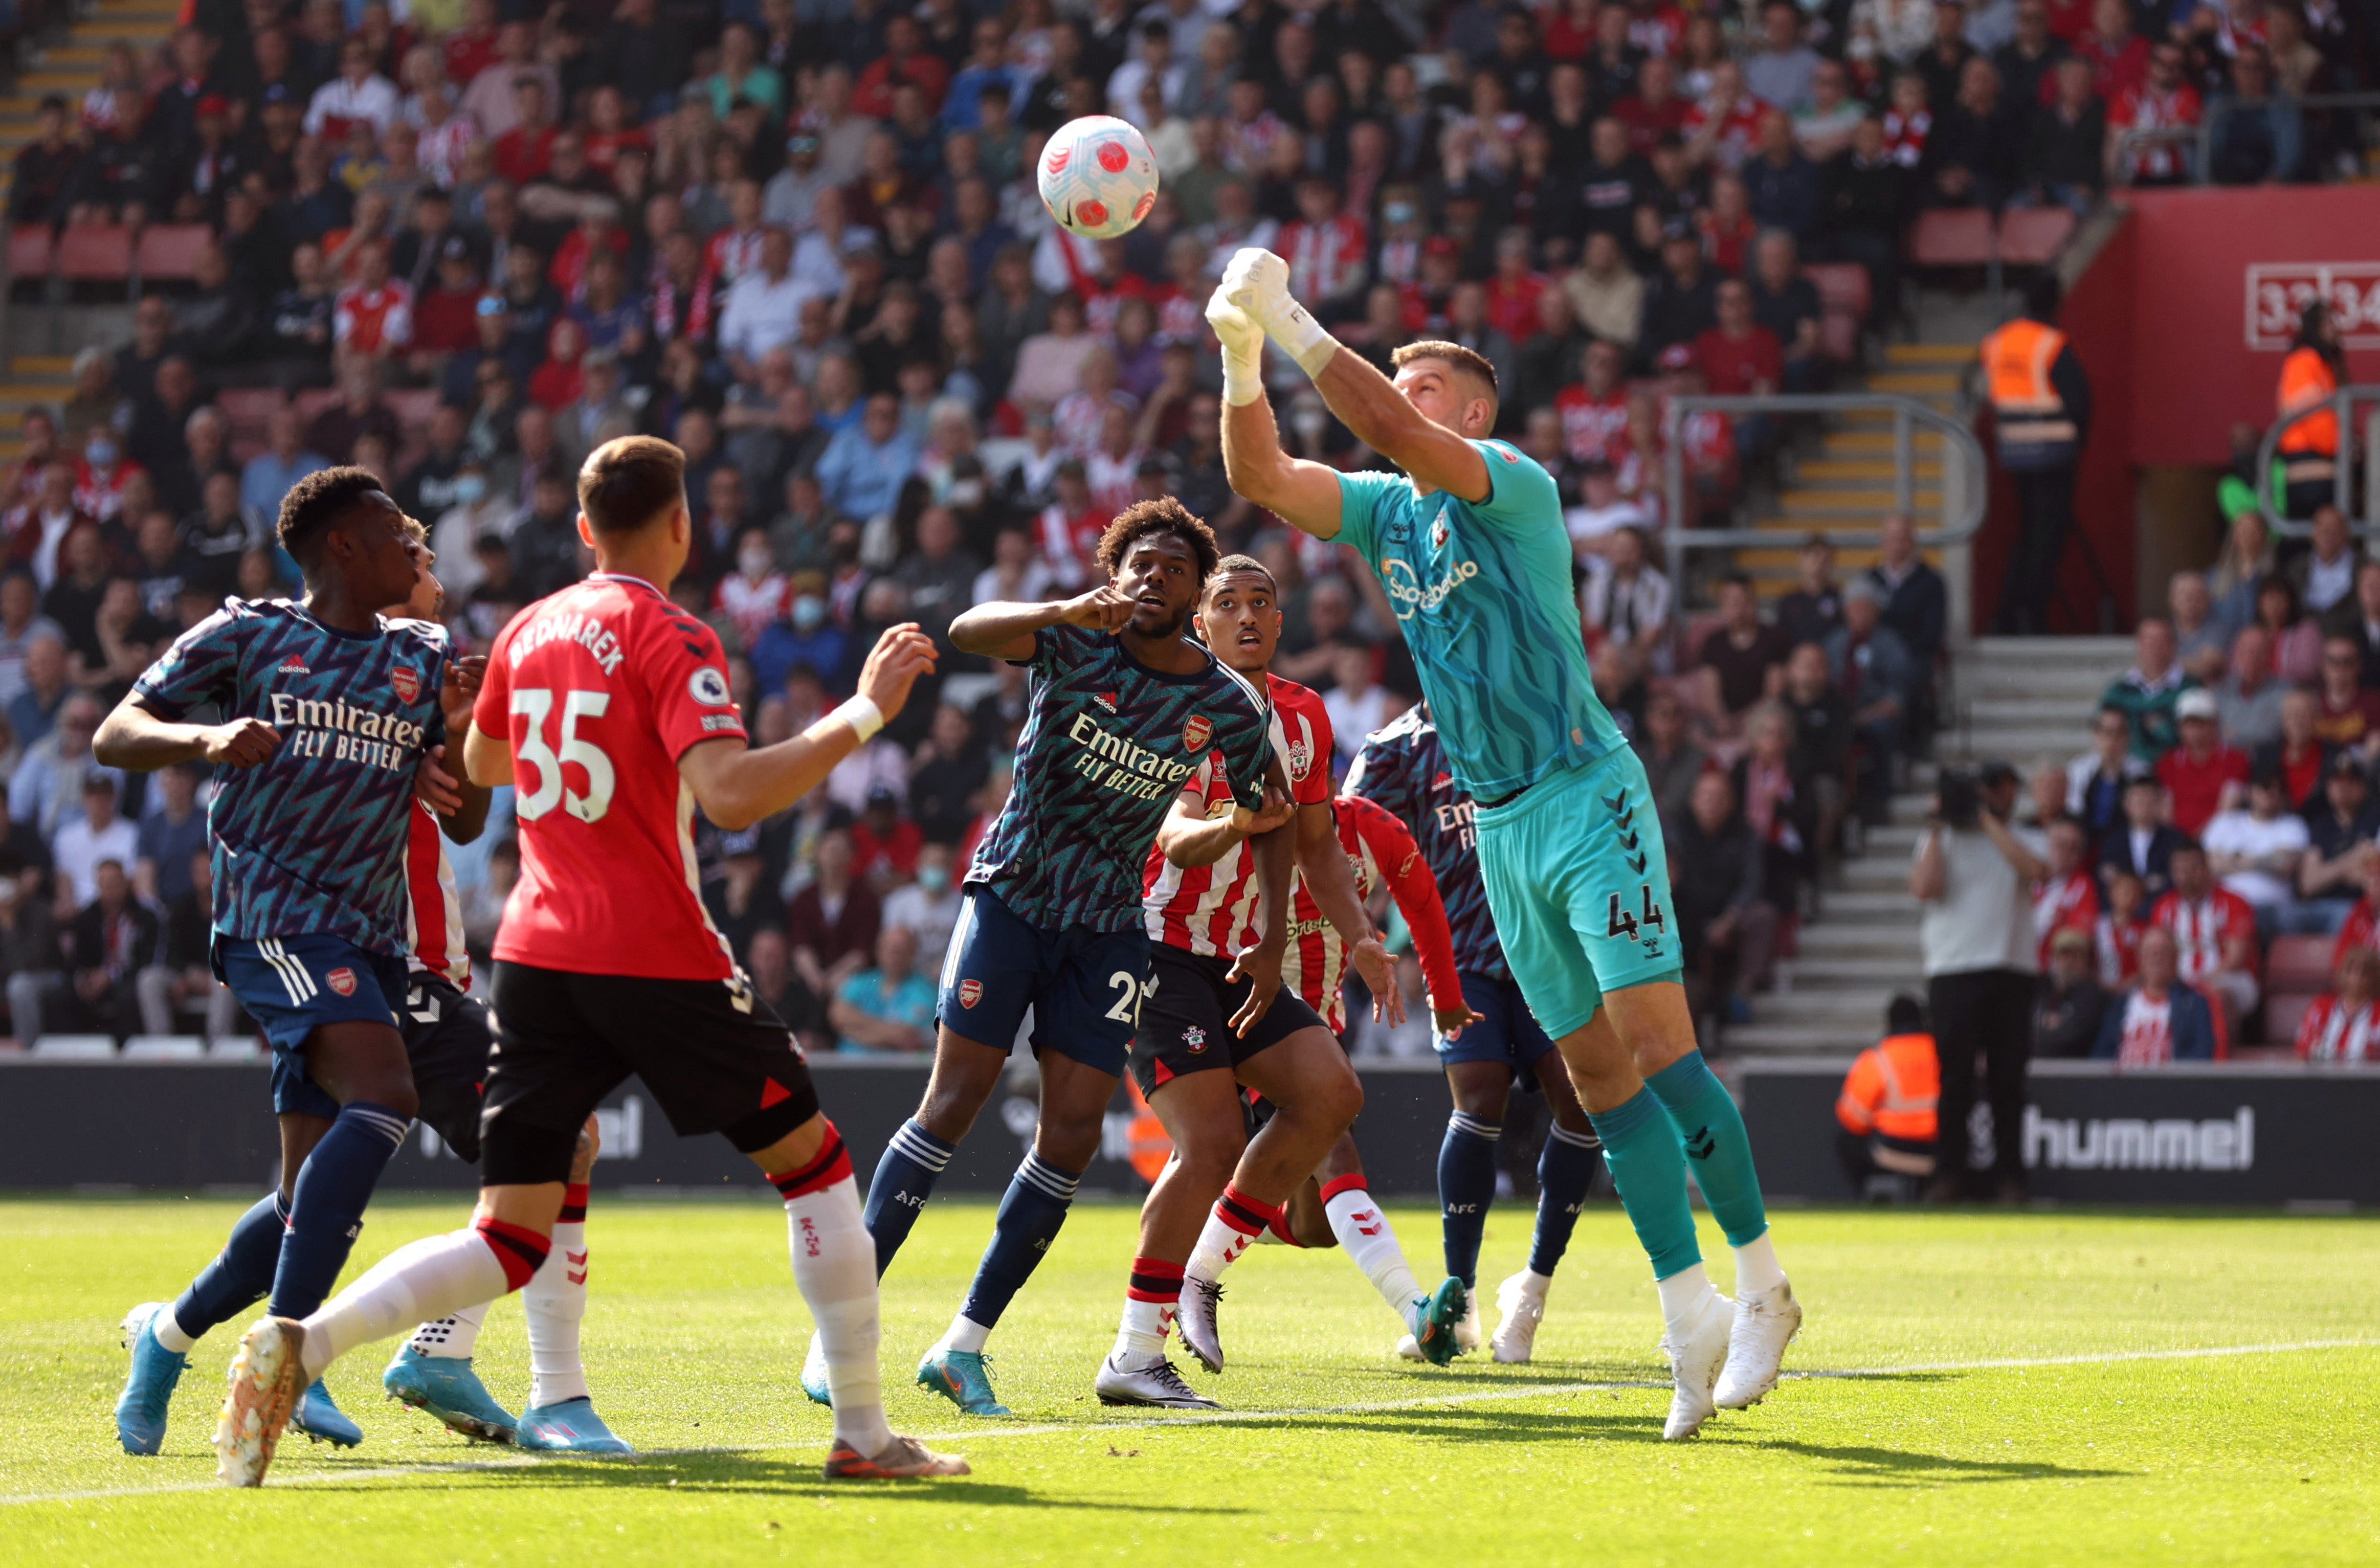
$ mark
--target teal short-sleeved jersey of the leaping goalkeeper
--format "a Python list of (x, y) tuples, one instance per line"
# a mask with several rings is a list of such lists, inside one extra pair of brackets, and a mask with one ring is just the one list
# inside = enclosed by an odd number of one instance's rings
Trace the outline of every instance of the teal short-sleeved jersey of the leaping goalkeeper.
[(1340, 473), (1338, 538), (1388, 590), (1457, 783), (1495, 802), (1628, 742), (1587, 673), (1554, 476), (1502, 440), (1471, 445), (1488, 500)]

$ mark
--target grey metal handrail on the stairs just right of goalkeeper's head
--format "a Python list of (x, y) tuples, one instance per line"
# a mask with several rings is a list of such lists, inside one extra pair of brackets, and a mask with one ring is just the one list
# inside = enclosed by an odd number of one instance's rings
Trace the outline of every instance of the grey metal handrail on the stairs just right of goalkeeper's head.
[[(1718, 393), (1680, 393), (1668, 400), (1668, 409), (1661, 414), (1661, 438), (1664, 438), (1664, 483), (1668, 495), (1668, 509), (1664, 514), (1666, 526), (1661, 533), (1668, 542), (1668, 583), (1671, 592), (1678, 595), (1683, 604), (1685, 595), (1685, 552), (1687, 550), (1745, 550), (1745, 547), (1787, 547), (1797, 545), (1799, 538), (1785, 535), (1778, 528), (1690, 528), (1680, 526), (1687, 516), (1685, 509), (1685, 454), (1678, 443), (1678, 428), (1687, 414), (1711, 412), (1711, 414), (1859, 414), (1871, 409), (1885, 409), (1892, 414), (1892, 509), (1914, 512), (1916, 504), (1916, 431), (1925, 426), (1940, 431), (1942, 435), (1942, 509), (1940, 526), (1921, 528), (1918, 545), (1935, 545), (1947, 552), (1942, 566), (1944, 578), (1949, 578), (1949, 635), (1954, 642), (1966, 642), (1971, 631), (1968, 600), (1968, 562), (1966, 547), (1973, 542), (1975, 533), (1983, 531), (1983, 519), (1990, 507), (1990, 488), (1985, 485), (1983, 466), (1983, 443), (1975, 440), (1975, 431), (1966, 421), (1944, 414), (1942, 409), (1918, 402), (1904, 393), (1768, 393), (1764, 397), (1749, 395), (1718, 395)], [(1916, 516), (1909, 519), (1911, 523)], [(1685, 616), (1676, 616), (1678, 635), (1685, 635)]]

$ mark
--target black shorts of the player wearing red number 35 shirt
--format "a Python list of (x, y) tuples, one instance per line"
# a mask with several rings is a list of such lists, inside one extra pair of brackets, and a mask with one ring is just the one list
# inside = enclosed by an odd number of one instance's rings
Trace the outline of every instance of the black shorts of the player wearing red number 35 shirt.
[[(678, 1137), (726, 1133), (745, 1154), (819, 1114), (802, 1047), (743, 973), (650, 980), (497, 961), (486, 1180), (562, 1180), (578, 1128), (628, 1078), (645, 1080)], [(557, 1149), (559, 1168), (540, 1173)]]

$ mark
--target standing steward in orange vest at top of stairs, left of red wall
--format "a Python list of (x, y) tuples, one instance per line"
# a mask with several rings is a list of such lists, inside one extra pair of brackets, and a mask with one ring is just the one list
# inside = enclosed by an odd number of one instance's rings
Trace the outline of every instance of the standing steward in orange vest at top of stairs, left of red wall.
[(2049, 274), (2025, 286), (2025, 314), (1985, 333), (1975, 347), (1983, 390), (1999, 424), (1999, 466), (2016, 481), (2021, 531), (1999, 585), (1992, 631), (2047, 631), (2066, 533), (2075, 521), (2075, 464), (2090, 433), (2090, 376), (2059, 314), (2059, 281)]

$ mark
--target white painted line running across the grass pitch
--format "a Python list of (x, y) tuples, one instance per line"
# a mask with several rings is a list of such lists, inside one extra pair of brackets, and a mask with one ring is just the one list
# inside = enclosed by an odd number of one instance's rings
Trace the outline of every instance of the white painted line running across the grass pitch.
[[(2380, 1340), (2292, 1340), (2282, 1344), (2206, 1344), (2206, 1347), (2182, 1347), (2182, 1349), (2125, 1349), (2125, 1351), (2102, 1351), (2082, 1356), (1994, 1356), (1987, 1361), (1914, 1361), (1906, 1366), (1852, 1366), (1833, 1371), (1790, 1371), (1787, 1382), (1795, 1380), (1818, 1380), (1818, 1378), (1904, 1378), (1911, 1373), (1997, 1373), (1997, 1371), (2023, 1371), (2035, 1366), (2118, 1366), (2125, 1361), (2202, 1361), (2218, 1356), (2287, 1356), (2294, 1351), (2316, 1349), (2373, 1349)], [(954, 1432), (926, 1432), (921, 1442), (988, 1442), (992, 1437), (1052, 1437), (1064, 1432), (1138, 1432), (1150, 1428), (1190, 1428), (1190, 1425), (1228, 1425), (1242, 1420), (1288, 1420), (1295, 1416), (1378, 1416), (1383, 1411), (1421, 1411), (1430, 1406), (1447, 1404), (1492, 1404), (1497, 1399), (1545, 1399), (1552, 1394), (1604, 1394), (1623, 1390), (1661, 1390), (1668, 1382), (1654, 1380), (1609, 1380), (1609, 1382), (1516, 1382), (1507, 1387), (1483, 1387), (1461, 1394), (1418, 1394), (1411, 1399), (1364, 1399), (1357, 1404), (1299, 1404), (1271, 1411), (1190, 1411), (1180, 1416), (1142, 1416), (1133, 1420), (1085, 1420), (1085, 1423), (1042, 1423), (1042, 1425), (981, 1425), (964, 1428)], [(802, 1449), (823, 1449), (831, 1440), (804, 1440), (804, 1442), (754, 1442), (754, 1444), (721, 1444), (702, 1449), (645, 1449), (638, 1459), (697, 1459), (704, 1454), (785, 1454)], [(557, 1459), (574, 1456), (547, 1456), (547, 1454), (516, 1454), (505, 1459), (455, 1459), (455, 1461), (428, 1461), (416, 1466), (383, 1466), (374, 1470), (305, 1470), (300, 1475), (276, 1478), (276, 1487), (302, 1487), (321, 1485), (333, 1480), (397, 1480), (405, 1475), (469, 1475), (474, 1470), (533, 1470)], [(74, 1501), (98, 1501), (109, 1497), (164, 1497), (171, 1492), (219, 1492), (221, 1482), (214, 1480), (176, 1480), (157, 1487), (93, 1487), (86, 1492), (19, 1492), (14, 1497), (0, 1497), (0, 1506), (17, 1504), (74, 1504)]]

